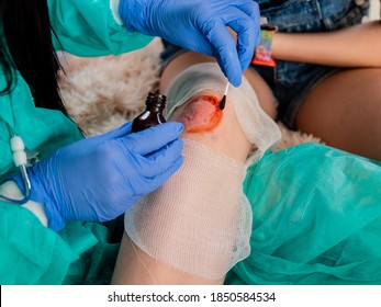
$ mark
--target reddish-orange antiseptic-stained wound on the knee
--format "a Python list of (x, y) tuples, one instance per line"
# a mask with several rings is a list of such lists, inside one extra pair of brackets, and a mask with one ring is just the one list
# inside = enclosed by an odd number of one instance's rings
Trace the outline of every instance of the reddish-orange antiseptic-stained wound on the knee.
[(218, 104), (217, 96), (195, 96), (188, 103), (176, 121), (184, 125), (186, 133), (202, 134), (211, 132), (218, 126), (223, 116)]

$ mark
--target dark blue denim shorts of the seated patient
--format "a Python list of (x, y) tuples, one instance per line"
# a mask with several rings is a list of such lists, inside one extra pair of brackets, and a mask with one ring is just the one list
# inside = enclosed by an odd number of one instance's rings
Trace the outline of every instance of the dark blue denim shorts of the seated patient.
[[(369, 0), (258, 0), (262, 23), (279, 32), (328, 32), (361, 23), (369, 12)], [(186, 52), (164, 42), (164, 66)], [(329, 46), (327, 46), (329, 48)], [(274, 68), (251, 66), (270, 87), (278, 105), (278, 121), (295, 129), (298, 110), (309, 93), (338, 68), (277, 60)]]

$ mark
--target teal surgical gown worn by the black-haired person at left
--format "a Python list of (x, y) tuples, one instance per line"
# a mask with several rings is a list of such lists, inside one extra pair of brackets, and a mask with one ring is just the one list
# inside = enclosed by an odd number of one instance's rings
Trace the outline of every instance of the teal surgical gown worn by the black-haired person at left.
[[(128, 33), (117, 23), (110, 0), (47, 2), (59, 37), (59, 43), (54, 38), (57, 49), (87, 57), (117, 55), (142, 48), (152, 39)], [(3, 35), (0, 39), (4, 39)], [(60, 112), (35, 107), (27, 84), (19, 73), (15, 78), (12, 93), (0, 95), (0, 182), (15, 171), (9, 146), (12, 132), (23, 138), (32, 160), (82, 138), (77, 126)], [(0, 89), (4, 86), (1, 69)], [(112, 266), (94, 264), (114, 261), (117, 245), (108, 243), (108, 236), (104, 226), (91, 223), (71, 223), (56, 234), (27, 209), (0, 202), (0, 284), (108, 282), (97, 278), (102, 276), (102, 270), (110, 276)], [(111, 261), (107, 261), (110, 257)]]

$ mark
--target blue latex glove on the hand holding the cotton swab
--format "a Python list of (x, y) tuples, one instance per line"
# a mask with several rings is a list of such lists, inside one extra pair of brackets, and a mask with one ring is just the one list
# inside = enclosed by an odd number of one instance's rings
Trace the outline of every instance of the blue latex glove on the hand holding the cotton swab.
[[(120, 15), (130, 32), (214, 56), (235, 87), (259, 42), (259, 8), (253, 0), (121, 0)], [(226, 26), (237, 33), (237, 44)]]

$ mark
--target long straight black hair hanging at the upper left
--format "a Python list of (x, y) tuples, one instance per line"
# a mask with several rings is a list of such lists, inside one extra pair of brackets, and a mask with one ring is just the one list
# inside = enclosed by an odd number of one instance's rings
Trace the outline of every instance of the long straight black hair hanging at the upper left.
[(0, 0), (0, 19), (4, 32), (4, 38), (0, 38), (0, 65), (7, 80), (0, 93), (12, 91), (16, 69), (29, 84), (36, 106), (67, 115), (59, 95), (60, 65), (53, 48), (55, 33), (46, 0)]

